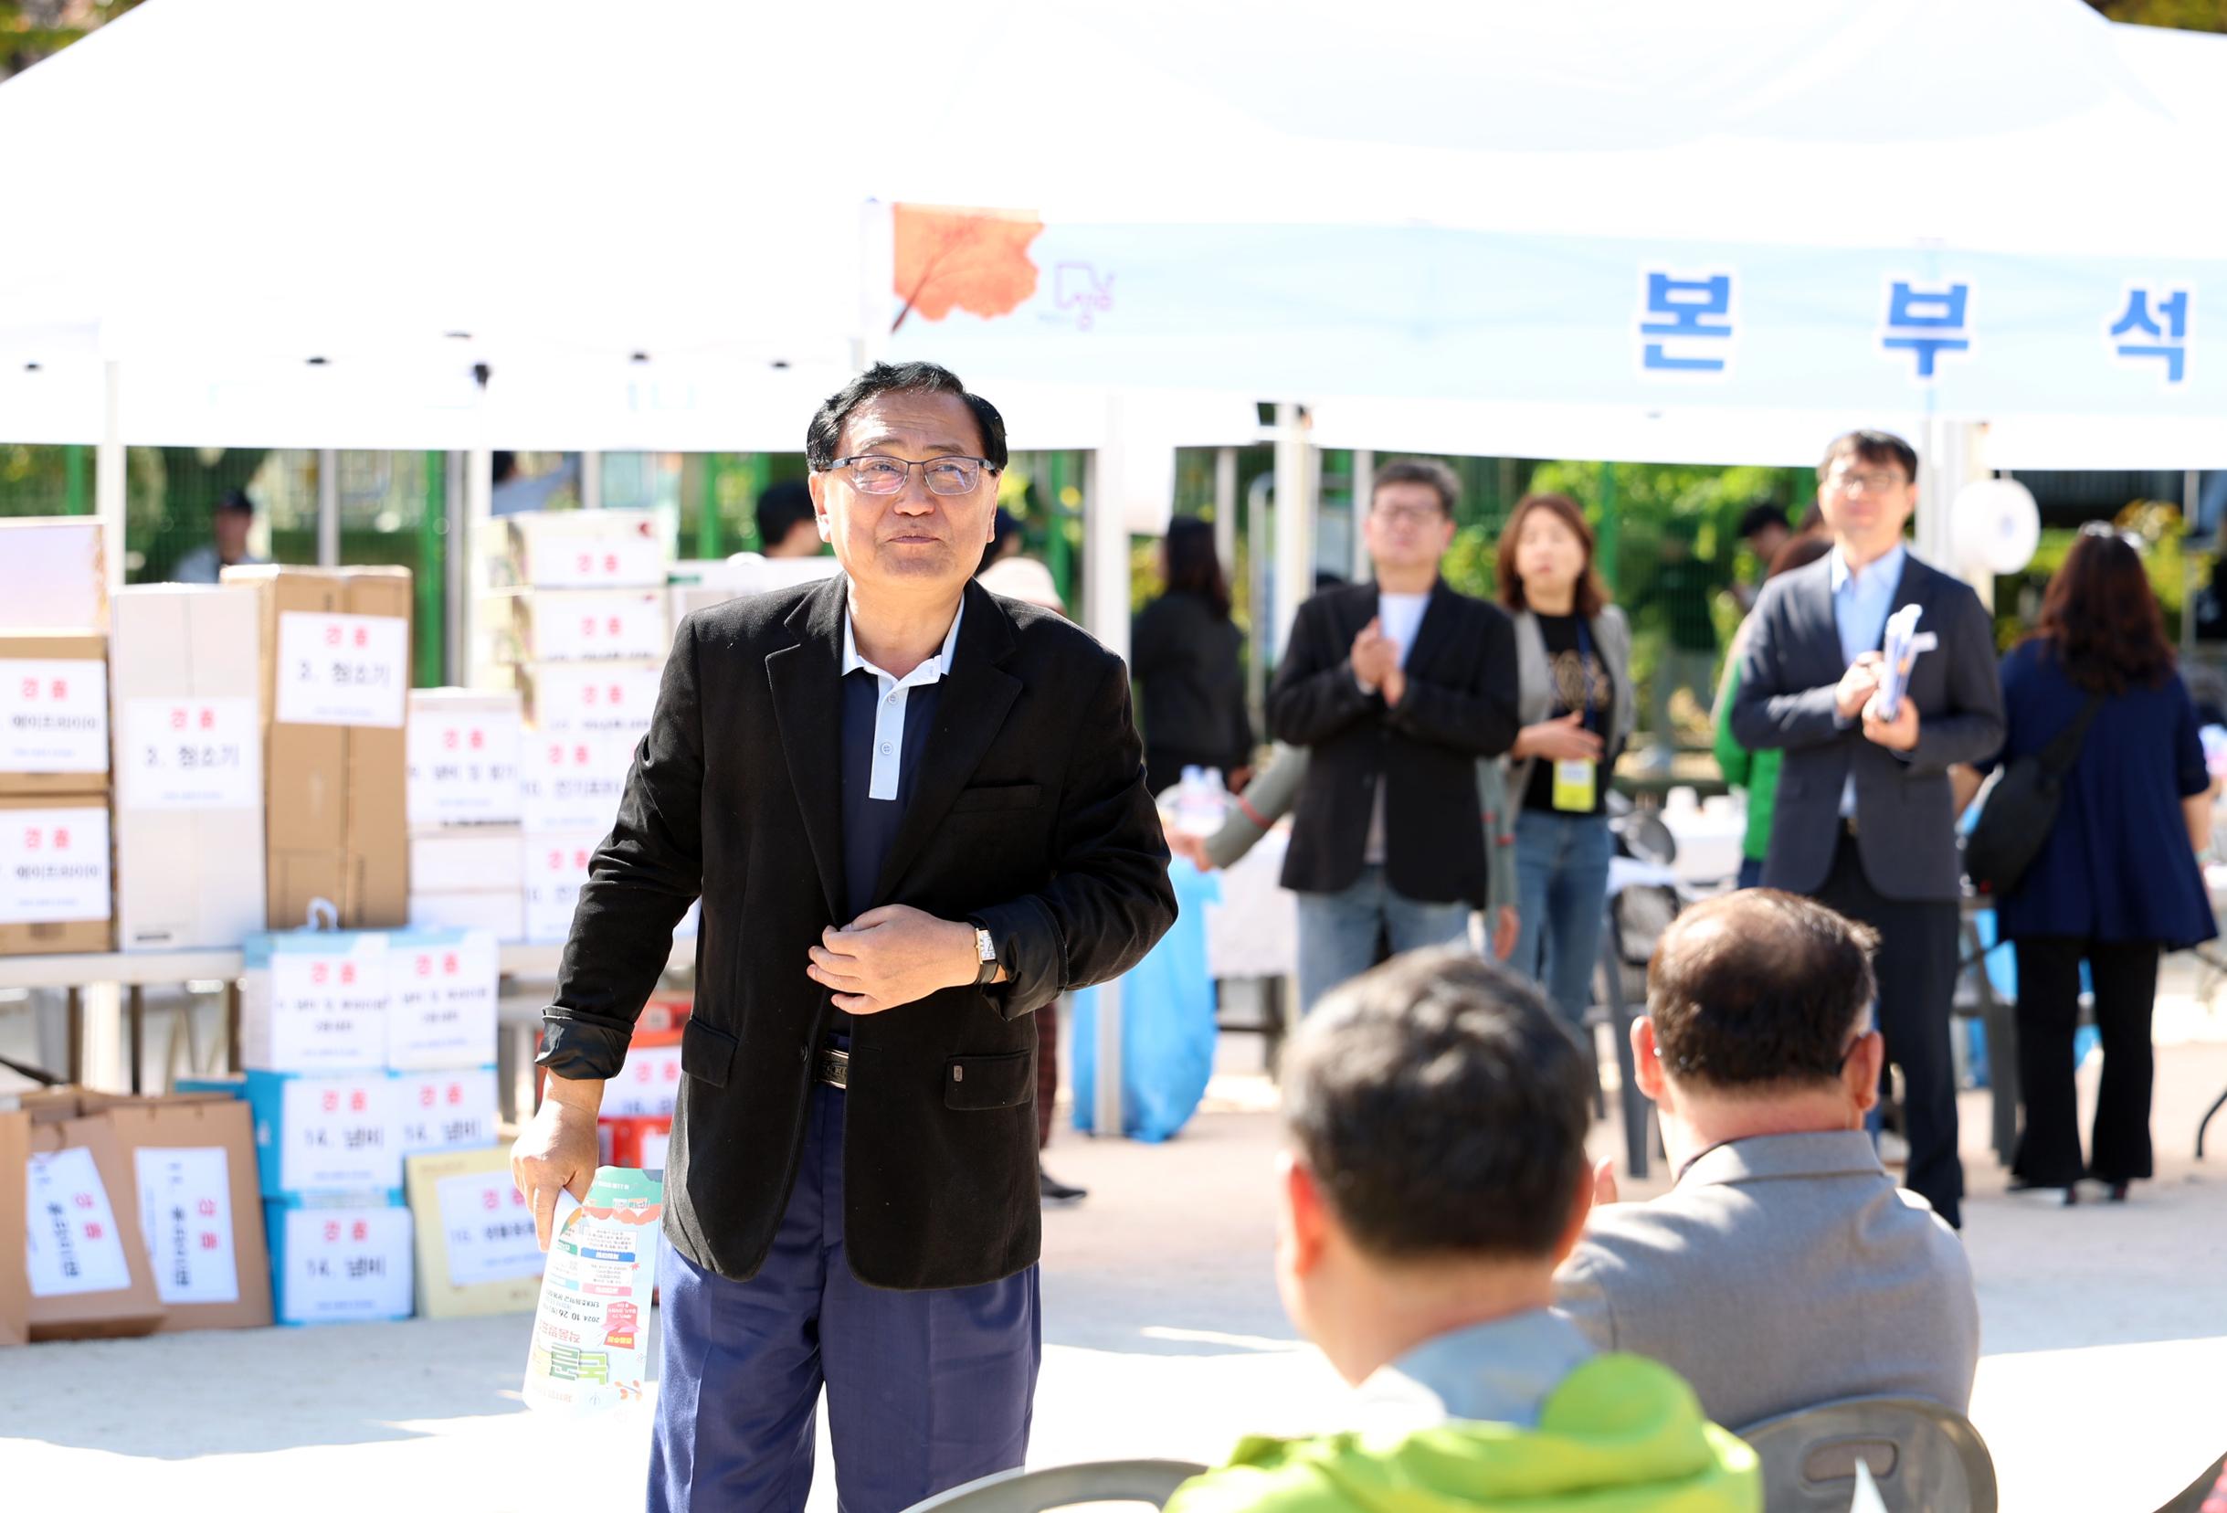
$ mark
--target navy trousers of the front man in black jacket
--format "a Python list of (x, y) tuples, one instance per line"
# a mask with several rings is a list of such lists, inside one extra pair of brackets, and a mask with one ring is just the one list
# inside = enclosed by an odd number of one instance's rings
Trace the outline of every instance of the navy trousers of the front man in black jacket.
[(902, 1513), (1029, 1453), (1036, 1268), (926, 1292), (855, 1279), (844, 1096), (813, 1090), (797, 1185), (755, 1277), (728, 1281), (661, 1246), (653, 1513), (802, 1513), (822, 1386), (842, 1513)]

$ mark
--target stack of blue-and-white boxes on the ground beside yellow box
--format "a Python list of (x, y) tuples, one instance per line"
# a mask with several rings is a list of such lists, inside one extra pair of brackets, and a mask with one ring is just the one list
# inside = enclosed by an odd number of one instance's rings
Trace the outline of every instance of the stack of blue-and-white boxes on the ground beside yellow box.
[(488, 931), (247, 940), (241, 1041), (283, 1324), (412, 1310), (405, 1161), (494, 1143)]

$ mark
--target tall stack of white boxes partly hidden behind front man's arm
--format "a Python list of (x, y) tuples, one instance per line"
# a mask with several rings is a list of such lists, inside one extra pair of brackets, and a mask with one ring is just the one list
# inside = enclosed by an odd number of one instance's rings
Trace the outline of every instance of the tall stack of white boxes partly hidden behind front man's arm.
[(526, 938), (563, 940), (657, 706), (666, 564), (646, 510), (561, 510), (510, 517), (510, 573)]

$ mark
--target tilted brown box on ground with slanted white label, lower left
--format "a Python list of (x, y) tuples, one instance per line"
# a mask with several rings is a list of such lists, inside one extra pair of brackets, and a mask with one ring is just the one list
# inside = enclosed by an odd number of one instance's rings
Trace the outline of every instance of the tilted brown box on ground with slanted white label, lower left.
[(138, 1185), (109, 1114), (31, 1128), (31, 1339), (109, 1339), (163, 1326), (138, 1226)]

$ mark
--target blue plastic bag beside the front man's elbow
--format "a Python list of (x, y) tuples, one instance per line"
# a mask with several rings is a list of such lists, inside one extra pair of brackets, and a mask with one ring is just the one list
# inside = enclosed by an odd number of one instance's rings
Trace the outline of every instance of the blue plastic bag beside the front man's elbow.
[[(1120, 978), (1120, 1125), (1140, 1141), (1165, 1141), (1198, 1112), (1214, 1076), (1214, 978), (1207, 976), (1207, 905), (1223, 900), (1220, 880), (1176, 858), (1176, 923)], [(1098, 989), (1076, 994), (1073, 1027), (1076, 1128), (1091, 1130), (1098, 1099)]]

